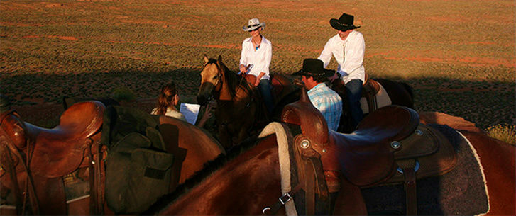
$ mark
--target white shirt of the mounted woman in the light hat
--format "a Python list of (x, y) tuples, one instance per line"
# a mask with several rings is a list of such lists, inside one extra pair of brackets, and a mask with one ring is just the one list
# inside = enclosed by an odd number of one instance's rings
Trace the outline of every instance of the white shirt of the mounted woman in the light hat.
[(265, 73), (262, 79), (269, 79), (269, 65), (270, 59), (273, 57), (273, 45), (262, 35), (262, 42), (258, 50), (254, 48), (253, 38), (246, 38), (242, 42), (242, 53), (240, 55), (240, 64), (246, 67), (249, 64), (253, 64), (249, 74), (253, 74), (256, 77), (260, 75), (260, 72)]

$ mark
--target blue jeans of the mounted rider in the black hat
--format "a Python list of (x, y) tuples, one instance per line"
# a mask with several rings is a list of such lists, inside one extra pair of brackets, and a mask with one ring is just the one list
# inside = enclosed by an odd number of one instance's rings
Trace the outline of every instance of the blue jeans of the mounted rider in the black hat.
[(351, 123), (356, 128), (363, 118), (363, 111), (360, 106), (362, 97), (362, 84), (360, 79), (353, 79), (346, 84), (346, 94), (348, 95), (349, 110), (351, 112)]

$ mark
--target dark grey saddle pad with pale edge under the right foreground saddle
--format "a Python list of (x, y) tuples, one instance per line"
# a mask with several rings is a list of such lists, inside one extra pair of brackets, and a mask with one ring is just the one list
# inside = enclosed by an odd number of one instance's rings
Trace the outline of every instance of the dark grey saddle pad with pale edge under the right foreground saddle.
[[(417, 181), (418, 215), (479, 215), (488, 212), (483, 174), (468, 141), (447, 125), (430, 125), (442, 132), (457, 152), (455, 169), (443, 176)], [(362, 189), (369, 214), (394, 211), (405, 215), (403, 184)]]

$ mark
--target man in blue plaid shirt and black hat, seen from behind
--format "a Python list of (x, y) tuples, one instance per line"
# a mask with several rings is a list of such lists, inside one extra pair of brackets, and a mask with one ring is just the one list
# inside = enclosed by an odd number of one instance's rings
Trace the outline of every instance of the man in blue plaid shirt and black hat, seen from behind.
[(342, 99), (331, 90), (324, 81), (335, 74), (333, 70), (324, 69), (324, 62), (319, 59), (304, 59), (303, 68), (292, 75), (301, 76), (304, 87), (309, 90), (308, 98), (326, 119), (328, 129), (337, 130), (342, 114)]

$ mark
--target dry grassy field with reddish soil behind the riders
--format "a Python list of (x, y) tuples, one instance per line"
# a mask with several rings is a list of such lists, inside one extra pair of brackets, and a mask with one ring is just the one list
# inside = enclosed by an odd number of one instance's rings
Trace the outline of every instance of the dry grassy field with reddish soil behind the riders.
[(471, 0), (2, 0), (0, 93), (32, 110), (23, 118), (36, 124), (44, 124), (36, 120), (40, 107), (62, 96), (109, 96), (126, 86), (155, 98), (175, 81), (192, 97), (204, 54), (222, 55), (236, 70), (248, 37), (241, 27), (253, 17), (267, 23), (271, 71), (291, 74), (319, 56), (336, 34), (329, 19), (346, 12), (363, 23), (366, 72), (410, 84), (417, 110), (481, 128), (515, 125), (515, 8), (515, 1)]

